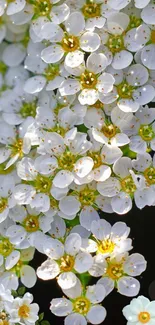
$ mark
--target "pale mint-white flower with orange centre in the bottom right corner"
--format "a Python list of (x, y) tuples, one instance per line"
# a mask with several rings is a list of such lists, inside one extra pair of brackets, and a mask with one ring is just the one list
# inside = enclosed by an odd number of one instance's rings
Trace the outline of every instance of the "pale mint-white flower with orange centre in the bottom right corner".
[(127, 319), (127, 325), (155, 324), (155, 301), (144, 296), (131, 300), (122, 312)]

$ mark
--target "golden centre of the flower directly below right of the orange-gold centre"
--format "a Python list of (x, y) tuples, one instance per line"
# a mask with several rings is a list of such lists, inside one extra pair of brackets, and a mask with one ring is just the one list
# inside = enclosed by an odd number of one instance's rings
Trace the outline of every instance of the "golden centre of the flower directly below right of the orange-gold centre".
[(97, 85), (97, 76), (95, 73), (86, 70), (81, 75), (80, 83), (83, 89), (93, 89)]

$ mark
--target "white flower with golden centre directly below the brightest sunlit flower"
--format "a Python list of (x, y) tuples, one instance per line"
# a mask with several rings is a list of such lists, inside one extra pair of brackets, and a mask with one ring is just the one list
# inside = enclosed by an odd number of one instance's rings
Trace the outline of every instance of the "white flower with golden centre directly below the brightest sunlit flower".
[(95, 277), (102, 276), (97, 283), (105, 287), (107, 295), (116, 287), (120, 294), (133, 297), (140, 290), (140, 283), (134, 277), (145, 269), (146, 261), (138, 253), (120, 254), (109, 259), (99, 254), (94, 257), (94, 264), (89, 273)]

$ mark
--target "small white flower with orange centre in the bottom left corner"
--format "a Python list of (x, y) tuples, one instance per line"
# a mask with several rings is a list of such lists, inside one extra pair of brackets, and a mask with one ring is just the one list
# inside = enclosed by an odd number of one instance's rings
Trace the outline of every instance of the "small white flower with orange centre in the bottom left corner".
[(11, 305), (11, 322), (26, 325), (35, 324), (39, 319), (39, 306), (36, 303), (32, 303), (32, 301), (33, 295), (28, 292), (22, 298), (15, 298)]

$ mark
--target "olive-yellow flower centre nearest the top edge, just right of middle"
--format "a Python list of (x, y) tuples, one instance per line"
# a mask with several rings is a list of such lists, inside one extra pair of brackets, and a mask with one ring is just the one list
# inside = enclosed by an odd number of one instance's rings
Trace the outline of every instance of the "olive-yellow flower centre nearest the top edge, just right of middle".
[(101, 16), (101, 4), (92, 3), (92, 2), (93, 1), (89, 1), (81, 9), (86, 19)]

